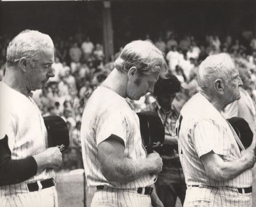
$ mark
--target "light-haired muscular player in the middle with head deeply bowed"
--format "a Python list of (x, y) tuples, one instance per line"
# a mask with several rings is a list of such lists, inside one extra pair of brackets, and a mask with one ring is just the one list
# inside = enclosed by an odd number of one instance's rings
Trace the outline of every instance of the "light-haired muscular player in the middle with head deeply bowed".
[[(128, 99), (152, 93), (166, 71), (162, 52), (150, 41), (127, 44), (115, 68), (92, 93), (82, 116), (81, 144), (86, 181), (96, 187), (91, 207), (150, 207), (162, 158), (147, 155), (139, 119)], [(153, 206), (163, 207), (153, 192)]]

